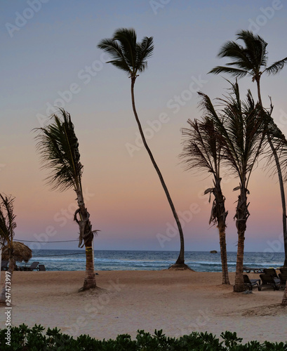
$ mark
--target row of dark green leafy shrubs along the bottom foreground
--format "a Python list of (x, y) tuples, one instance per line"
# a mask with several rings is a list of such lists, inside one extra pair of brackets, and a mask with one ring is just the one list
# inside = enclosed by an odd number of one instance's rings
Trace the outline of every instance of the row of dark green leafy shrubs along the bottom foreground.
[(162, 331), (154, 331), (152, 336), (145, 331), (138, 331), (135, 340), (131, 339), (128, 334), (119, 335), (116, 340), (96, 340), (87, 335), (81, 335), (77, 339), (60, 333), (60, 329), (50, 329), (43, 333), (44, 327), (37, 326), (29, 328), (25, 324), (13, 326), (11, 328), (11, 341), (7, 345), (7, 329), (0, 330), (0, 347), (2, 351), (21, 350), (21, 351), (39, 351), (39, 350), (98, 350), (98, 351), (213, 351), (213, 350), (287, 350), (286, 343), (259, 343), (251, 341), (245, 345), (241, 344), (242, 338), (238, 338), (236, 333), (225, 331), (221, 333), (222, 341), (213, 336), (211, 333), (193, 333), (180, 338), (166, 337)]

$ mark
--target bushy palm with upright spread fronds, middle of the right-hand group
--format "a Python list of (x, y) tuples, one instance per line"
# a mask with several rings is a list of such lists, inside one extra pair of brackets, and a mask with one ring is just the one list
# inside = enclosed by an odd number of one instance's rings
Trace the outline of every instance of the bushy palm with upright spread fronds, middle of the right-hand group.
[(239, 197), (236, 204), (236, 229), (238, 235), (236, 274), (234, 291), (244, 291), (243, 255), (248, 211), (248, 183), (253, 168), (258, 161), (265, 139), (266, 116), (262, 107), (255, 105), (251, 91), (246, 101), (241, 101), (237, 82), (232, 84), (232, 91), (225, 99), (219, 99), (222, 110), (217, 112), (208, 98), (201, 95), (201, 106), (206, 116), (214, 121), (218, 135), (222, 135), (222, 161), (239, 178)]

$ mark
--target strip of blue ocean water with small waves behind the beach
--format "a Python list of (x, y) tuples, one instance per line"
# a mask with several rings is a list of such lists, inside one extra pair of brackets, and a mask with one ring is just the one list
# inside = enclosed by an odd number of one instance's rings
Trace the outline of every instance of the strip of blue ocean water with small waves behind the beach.
[[(175, 263), (177, 251), (117, 251), (95, 250), (95, 271), (97, 270), (163, 270)], [(227, 253), (229, 272), (235, 272), (236, 252)], [(283, 253), (244, 253), (244, 265), (248, 267), (281, 267)], [(27, 263), (39, 261), (46, 270), (85, 270), (84, 250), (33, 250), (33, 257)], [(197, 272), (220, 272), (220, 253), (186, 251), (185, 263)], [(21, 263), (20, 265), (24, 265)]]

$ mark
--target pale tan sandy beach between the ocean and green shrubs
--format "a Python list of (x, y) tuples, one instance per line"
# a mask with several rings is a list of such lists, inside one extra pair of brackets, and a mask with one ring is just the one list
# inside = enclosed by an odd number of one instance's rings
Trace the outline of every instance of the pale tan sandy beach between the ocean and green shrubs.
[[(1, 272), (1, 282), (4, 272)], [(191, 271), (99, 271), (95, 291), (78, 293), (85, 272), (14, 272), (13, 325), (41, 324), (79, 336), (116, 338), (138, 329), (168, 336), (192, 331), (236, 331), (249, 340), (286, 341), (283, 291), (234, 293), (221, 273)], [(258, 277), (258, 274), (249, 274)], [(230, 274), (233, 284), (234, 273)], [(4, 326), (4, 307), (0, 322)]]

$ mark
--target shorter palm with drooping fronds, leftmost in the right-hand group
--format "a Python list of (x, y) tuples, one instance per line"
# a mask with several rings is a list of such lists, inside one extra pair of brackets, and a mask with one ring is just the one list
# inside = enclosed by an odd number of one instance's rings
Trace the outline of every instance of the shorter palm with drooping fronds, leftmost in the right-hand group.
[(212, 119), (205, 117), (203, 121), (189, 119), (187, 123), (189, 128), (182, 128), (184, 141), (180, 158), (185, 162), (187, 170), (193, 171), (196, 168), (213, 175), (213, 187), (208, 188), (204, 194), (210, 194), (209, 201), (211, 194), (214, 196), (209, 224), (217, 225), (219, 231), (222, 284), (230, 284), (225, 239), (228, 211), (225, 211), (225, 197), (222, 194), (220, 177), (222, 138), (218, 135)]

